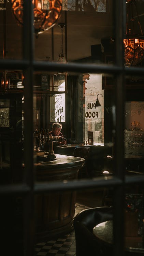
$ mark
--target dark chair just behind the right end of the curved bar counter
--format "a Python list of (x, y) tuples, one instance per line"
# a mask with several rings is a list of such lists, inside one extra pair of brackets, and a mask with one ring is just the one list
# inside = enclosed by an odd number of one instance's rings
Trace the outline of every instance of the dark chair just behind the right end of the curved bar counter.
[(87, 159), (88, 159), (89, 151), (90, 151), (90, 147), (76, 147), (74, 149), (73, 156), (82, 157), (85, 159), (84, 166), (78, 172), (78, 178), (89, 177), (88, 170), (87, 170)]

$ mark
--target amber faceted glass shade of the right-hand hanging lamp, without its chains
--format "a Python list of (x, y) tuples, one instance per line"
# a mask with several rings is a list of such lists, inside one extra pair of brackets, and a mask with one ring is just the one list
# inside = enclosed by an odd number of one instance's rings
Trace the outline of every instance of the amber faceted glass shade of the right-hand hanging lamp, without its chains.
[(140, 63), (144, 57), (144, 39), (134, 37), (124, 39), (125, 66), (130, 67)]

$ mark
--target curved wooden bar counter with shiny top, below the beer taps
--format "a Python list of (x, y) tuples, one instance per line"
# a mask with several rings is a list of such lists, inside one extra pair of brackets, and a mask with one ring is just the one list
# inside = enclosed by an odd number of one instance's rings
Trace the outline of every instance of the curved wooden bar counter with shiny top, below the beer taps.
[[(53, 161), (46, 156), (35, 163), (37, 182), (73, 180), (84, 165), (79, 157), (56, 155)], [(35, 195), (36, 240), (48, 241), (73, 230), (76, 192), (42, 193)]]

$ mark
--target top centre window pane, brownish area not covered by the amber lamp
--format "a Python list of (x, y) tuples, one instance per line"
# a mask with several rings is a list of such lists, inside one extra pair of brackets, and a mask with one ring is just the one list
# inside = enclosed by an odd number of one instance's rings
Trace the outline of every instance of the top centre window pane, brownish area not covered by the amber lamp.
[(113, 65), (114, 24), (112, 1), (64, 0), (55, 26), (35, 38), (34, 58)]

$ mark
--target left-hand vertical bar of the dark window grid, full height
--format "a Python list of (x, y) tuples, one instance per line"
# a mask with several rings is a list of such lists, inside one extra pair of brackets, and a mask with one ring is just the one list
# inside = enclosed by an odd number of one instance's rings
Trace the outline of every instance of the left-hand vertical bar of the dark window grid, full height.
[(30, 186), (30, 193), (24, 198), (24, 255), (34, 255), (34, 170), (33, 170), (33, 5), (24, 0), (23, 58), (29, 61), (24, 70), (24, 181)]

